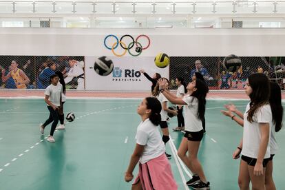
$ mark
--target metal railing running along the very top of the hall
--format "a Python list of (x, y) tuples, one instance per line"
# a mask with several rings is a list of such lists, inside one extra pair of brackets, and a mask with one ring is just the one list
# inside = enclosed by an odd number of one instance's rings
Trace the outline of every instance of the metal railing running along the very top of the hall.
[(285, 14), (285, 1), (0, 1), (0, 14)]

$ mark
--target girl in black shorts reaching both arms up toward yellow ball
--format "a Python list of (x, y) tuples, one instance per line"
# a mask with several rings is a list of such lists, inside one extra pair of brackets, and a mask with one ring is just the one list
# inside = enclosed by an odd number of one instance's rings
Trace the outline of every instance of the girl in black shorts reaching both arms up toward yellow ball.
[[(165, 83), (158, 80), (161, 93), (174, 104), (185, 105), (185, 135), (178, 149), (178, 156), (193, 173), (193, 178), (187, 182), (192, 189), (210, 189), (210, 182), (204, 176), (202, 165), (198, 160), (200, 141), (203, 138), (201, 118), (206, 110), (206, 96), (209, 89), (199, 78), (187, 85), (187, 95), (184, 98), (176, 97), (165, 90)], [(188, 156), (187, 156), (188, 151)]]

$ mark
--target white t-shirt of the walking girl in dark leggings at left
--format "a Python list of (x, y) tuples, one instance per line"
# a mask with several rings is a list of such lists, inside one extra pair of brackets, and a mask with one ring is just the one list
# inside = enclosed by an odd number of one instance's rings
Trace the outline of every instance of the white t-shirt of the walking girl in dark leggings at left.
[(58, 85), (49, 85), (46, 89), (45, 89), (45, 95), (50, 96), (48, 98), (48, 100), (56, 106), (60, 106), (61, 105), (61, 93), (63, 92), (63, 87), (61, 84)]

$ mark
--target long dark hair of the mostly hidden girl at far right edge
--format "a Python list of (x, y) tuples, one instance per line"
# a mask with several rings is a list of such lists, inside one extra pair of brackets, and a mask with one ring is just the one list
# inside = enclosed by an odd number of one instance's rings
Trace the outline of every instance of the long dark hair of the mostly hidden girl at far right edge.
[(281, 98), (281, 88), (277, 83), (271, 82), (271, 95), (269, 103), (271, 106), (271, 112), (273, 117), (273, 123), (275, 124), (275, 131), (278, 132), (282, 128), (283, 120), (283, 107)]

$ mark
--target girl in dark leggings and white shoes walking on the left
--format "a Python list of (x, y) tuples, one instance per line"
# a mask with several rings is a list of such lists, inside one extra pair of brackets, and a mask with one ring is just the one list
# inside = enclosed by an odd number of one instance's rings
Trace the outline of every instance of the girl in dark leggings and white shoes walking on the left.
[(50, 136), (47, 138), (49, 142), (55, 142), (54, 130), (57, 123), (59, 123), (59, 109), (61, 107), (61, 93), (63, 92), (62, 85), (59, 84), (59, 76), (56, 74), (50, 76), (51, 84), (45, 89), (45, 103), (47, 103), (47, 109), (50, 111), (50, 117), (41, 124), (41, 134), (44, 133), (44, 129), (47, 125), (52, 123), (50, 129)]

